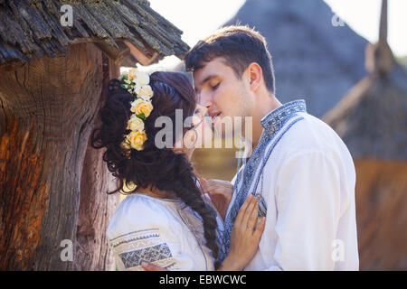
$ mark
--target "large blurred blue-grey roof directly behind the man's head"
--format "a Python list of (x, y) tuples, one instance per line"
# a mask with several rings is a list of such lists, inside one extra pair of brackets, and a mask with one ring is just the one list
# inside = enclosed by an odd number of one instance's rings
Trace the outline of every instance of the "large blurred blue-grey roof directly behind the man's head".
[(322, 117), (366, 76), (367, 41), (349, 26), (334, 26), (323, 0), (246, 0), (228, 24), (248, 24), (267, 40), (282, 102), (304, 98)]

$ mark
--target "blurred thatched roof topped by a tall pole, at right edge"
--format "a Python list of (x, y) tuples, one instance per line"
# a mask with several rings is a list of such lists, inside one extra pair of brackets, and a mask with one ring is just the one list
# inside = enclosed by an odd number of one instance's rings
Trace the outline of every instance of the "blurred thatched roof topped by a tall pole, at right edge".
[(323, 118), (359, 158), (407, 160), (407, 73), (387, 44), (387, 4), (379, 42), (366, 49), (371, 74)]

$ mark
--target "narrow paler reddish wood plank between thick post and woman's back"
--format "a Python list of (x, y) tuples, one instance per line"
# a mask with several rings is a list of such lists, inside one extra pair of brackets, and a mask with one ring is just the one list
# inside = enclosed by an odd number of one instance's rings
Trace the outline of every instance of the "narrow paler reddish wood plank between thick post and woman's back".
[[(109, 79), (118, 78), (119, 67), (103, 55), (103, 87)], [(100, 94), (98, 107), (105, 102)], [(95, 115), (94, 126), (99, 126)], [(89, 140), (90, 142), (90, 140)], [(74, 270), (114, 270), (115, 263), (106, 238), (106, 228), (114, 210), (118, 207), (118, 194), (108, 195), (116, 189), (116, 182), (103, 162), (103, 150), (88, 144), (80, 181), (80, 210), (77, 223)]]

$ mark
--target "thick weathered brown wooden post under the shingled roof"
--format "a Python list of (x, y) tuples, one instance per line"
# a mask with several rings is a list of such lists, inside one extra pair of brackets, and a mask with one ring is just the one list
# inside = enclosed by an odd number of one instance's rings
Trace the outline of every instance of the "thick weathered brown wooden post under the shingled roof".
[[(64, 57), (33, 59), (17, 70), (0, 71), (0, 270), (111, 264), (100, 239), (114, 210), (104, 191), (109, 174), (101, 169), (101, 152), (89, 149), (108, 76), (102, 52), (93, 44), (68, 49)], [(64, 239), (73, 243), (72, 261), (62, 261)], [(94, 243), (92, 250), (98, 247), (94, 254), (99, 257), (77, 266), (76, 247), (86, 242)]]

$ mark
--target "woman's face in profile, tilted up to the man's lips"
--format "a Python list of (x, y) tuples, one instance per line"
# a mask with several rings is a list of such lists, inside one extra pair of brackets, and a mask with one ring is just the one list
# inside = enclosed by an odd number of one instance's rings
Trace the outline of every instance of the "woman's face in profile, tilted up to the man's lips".
[(184, 146), (194, 149), (204, 147), (205, 143), (212, 141), (213, 131), (208, 122), (207, 108), (196, 105), (194, 116), (192, 117), (193, 128), (184, 135)]

